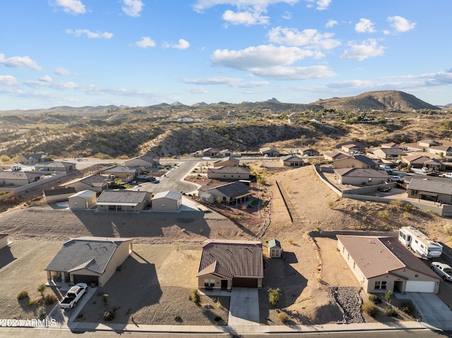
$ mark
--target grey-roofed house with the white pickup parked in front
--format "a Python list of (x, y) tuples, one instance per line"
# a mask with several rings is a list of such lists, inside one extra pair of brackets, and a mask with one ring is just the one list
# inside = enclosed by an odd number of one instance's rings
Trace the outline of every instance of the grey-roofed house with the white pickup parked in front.
[(63, 244), (45, 271), (47, 281), (105, 286), (133, 251), (133, 239), (79, 237)]

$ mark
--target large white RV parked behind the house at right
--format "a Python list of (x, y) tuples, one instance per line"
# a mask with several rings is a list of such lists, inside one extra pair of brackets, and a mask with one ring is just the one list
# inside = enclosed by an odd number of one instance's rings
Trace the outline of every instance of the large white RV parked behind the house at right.
[(443, 252), (440, 243), (432, 241), (413, 227), (401, 227), (398, 231), (398, 240), (415, 253), (419, 253), (422, 258), (438, 258)]

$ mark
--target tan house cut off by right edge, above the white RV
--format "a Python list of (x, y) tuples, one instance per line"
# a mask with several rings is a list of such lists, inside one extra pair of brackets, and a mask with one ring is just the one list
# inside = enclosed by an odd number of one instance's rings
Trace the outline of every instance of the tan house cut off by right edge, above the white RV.
[(412, 179), (407, 193), (409, 198), (452, 204), (452, 181)]

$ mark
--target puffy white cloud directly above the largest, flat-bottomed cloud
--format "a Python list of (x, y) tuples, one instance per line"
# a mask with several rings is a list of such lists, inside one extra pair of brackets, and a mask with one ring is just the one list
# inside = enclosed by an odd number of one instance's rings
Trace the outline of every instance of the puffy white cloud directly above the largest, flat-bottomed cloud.
[(340, 46), (339, 40), (334, 40), (333, 33), (321, 33), (308, 29), (301, 32), (295, 28), (273, 28), (268, 32), (268, 40), (278, 44), (306, 46), (313, 49), (333, 49)]

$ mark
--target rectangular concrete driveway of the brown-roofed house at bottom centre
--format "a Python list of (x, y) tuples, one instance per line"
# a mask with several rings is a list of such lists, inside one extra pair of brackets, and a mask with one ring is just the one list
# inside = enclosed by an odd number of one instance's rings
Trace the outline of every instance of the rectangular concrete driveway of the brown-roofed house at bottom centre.
[(259, 325), (258, 289), (234, 287), (230, 296), (227, 325)]

